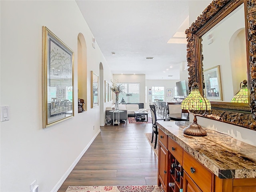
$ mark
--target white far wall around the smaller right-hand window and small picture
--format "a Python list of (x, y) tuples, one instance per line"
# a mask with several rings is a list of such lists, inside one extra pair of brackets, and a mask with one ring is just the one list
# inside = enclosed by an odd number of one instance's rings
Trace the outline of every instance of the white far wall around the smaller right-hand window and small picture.
[[(149, 100), (152, 102), (152, 95), (148, 94), (148, 90), (152, 89), (152, 86), (164, 86), (164, 101), (166, 99), (168, 102), (171, 101), (172, 98), (174, 98), (174, 86), (176, 86), (176, 82), (180, 80), (146, 80), (146, 86), (147, 86), (147, 103), (146, 103), (146, 109), (149, 109)], [(173, 97), (166, 97), (166, 89), (172, 89), (173, 90)]]

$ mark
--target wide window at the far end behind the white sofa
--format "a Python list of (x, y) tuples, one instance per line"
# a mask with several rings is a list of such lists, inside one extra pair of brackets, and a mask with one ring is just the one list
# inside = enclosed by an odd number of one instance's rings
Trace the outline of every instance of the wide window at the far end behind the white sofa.
[(119, 94), (118, 100), (122, 102), (124, 98), (125, 103), (139, 103), (140, 102), (140, 84), (139, 83), (122, 83), (124, 86), (124, 94)]

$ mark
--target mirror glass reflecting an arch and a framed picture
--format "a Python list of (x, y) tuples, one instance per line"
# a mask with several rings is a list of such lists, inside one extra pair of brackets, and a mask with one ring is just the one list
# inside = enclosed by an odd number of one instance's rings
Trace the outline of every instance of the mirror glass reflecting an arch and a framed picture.
[(231, 102), (247, 80), (244, 4), (202, 36), (204, 96)]

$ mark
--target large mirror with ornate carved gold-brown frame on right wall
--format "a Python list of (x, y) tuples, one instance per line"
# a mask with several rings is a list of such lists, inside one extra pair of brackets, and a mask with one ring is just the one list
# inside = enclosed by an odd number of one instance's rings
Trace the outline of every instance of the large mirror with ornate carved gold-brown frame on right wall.
[[(198, 82), (212, 104), (204, 117), (256, 130), (256, 2), (213, 1), (186, 35), (189, 89)], [(248, 103), (231, 102), (243, 80)]]

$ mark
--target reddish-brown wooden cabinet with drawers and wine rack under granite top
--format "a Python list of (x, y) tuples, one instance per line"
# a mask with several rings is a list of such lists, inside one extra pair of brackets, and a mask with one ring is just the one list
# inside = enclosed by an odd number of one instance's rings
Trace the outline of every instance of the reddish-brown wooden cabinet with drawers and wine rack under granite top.
[(256, 192), (256, 178), (219, 178), (181, 145), (159, 128), (158, 186), (165, 192)]

